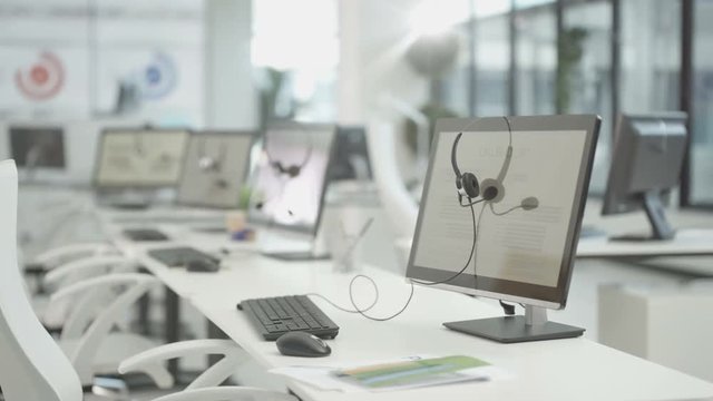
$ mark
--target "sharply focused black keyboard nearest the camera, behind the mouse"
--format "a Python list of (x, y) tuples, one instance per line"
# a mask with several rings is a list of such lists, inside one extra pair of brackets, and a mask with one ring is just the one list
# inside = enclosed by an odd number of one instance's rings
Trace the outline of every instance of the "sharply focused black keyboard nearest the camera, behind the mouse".
[(339, 326), (306, 295), (246, 300), (237, 304), (237, 309), (247, 313), (267, 341), (293, 331), (307, 332), (321, 339), (334, 339), (339, 334)]

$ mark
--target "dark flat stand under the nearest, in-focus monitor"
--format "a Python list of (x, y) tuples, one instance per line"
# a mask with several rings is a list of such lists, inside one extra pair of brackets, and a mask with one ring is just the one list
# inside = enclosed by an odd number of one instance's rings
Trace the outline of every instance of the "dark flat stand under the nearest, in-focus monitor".
[(443, 325), (457, 332), (501, 343), (572, 339), (584, 333), (582, 327), (548, 321), (546, 309), (531, 305), (525, 305), (525, 316), (478, 319)]

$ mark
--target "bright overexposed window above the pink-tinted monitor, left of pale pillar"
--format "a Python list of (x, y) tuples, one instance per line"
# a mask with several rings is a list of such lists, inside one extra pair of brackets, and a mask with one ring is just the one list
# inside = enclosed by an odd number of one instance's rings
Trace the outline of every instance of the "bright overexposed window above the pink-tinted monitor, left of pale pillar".
[(253, 2), (253, 65), (262, 119), (336, 117), (336, 0)]

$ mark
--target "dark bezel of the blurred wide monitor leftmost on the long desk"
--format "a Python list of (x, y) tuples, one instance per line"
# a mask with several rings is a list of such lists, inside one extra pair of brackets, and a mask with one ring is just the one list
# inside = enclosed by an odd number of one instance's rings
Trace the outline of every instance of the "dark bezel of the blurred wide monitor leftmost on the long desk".
[[(187, 140), (186, 140), (186, 146), (184, 146), (183, 149), (183, 155), (180, 155), (180, 172), (178, 172), (178, 178), (176, 178), (176, 180), (174, 183), (141, 183), (141, 184), (137, 184), (137, 183), (131, 183), (131, 184), (100, 184), (99, 183), (99, 168), (100, 168), (100, 162), (101, 158), (104, 157), (104, 144), (105, 140), (107, 138), (108, 135), (111, 135), (111, 133), (149, 133), (149, 135), (166, 135), (166, 134), (174, 134), (176, 131), (180, 131), (184, 133), (187, 136)], [(183, 167), (184, 167), (184, 160), (186, 157), (186, 151), (188, 149), (188, 141), (191, 140), (191, 133), (192, 129), (187, 128), (187, 127), (160, 127), (160, 128), (156, 128), (156, 127), (119, 127), (119, 126), (115, 126), (115, 127), (106, 127), (104, 129), (101, 129), (101, 138), (98, 143), (98, 147), (97, 147), (97, 156), (95, 159), (95, 168), (94, 168), (94, 174), (91, 177), (91, 185), (94, 188), (96, 189), (165, 189), (165, 188), (175, 188), (178, 185), (178, 180), (180, 179), (180, 177), (183, 177)]]

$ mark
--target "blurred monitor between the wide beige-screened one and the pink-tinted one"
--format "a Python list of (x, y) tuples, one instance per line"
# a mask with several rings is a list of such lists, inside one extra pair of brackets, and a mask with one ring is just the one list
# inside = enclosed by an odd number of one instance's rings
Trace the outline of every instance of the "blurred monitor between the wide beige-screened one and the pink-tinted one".
[(191, 135), (176, 203), (236, 208), (250, 170), (254, 131), (201, 131)]

